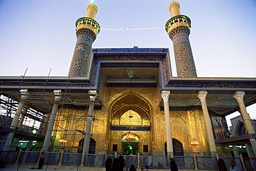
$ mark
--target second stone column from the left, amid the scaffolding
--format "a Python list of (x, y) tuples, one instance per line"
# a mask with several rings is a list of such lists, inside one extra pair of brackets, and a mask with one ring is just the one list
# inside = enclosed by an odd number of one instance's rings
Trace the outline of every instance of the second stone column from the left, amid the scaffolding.
[(53, 132), (53, 125), (54, 125), (57, 109), (59, 107), (58, 102), (60, 101), (60, 98), (62, 98), (62, 96), (60, 94), (61, 91), (62, 90), (54, 90), (53, 91), (54, 94), (55, 94), (55, 102), (53, 104), (53, 109), (52, 109), (52, 112), (51, 112), (50, 121), (48, 123), (46, 136), (44, 138), (44, 145), (43, 145), (43, 148), (42, 148), (44, 152), (48, 151), (48, 148), (49, 148), (49, 145), (50, 145), (50, 142), (51, 142), (51, 138), (52, 138), (51, 135), (52, 135), (52, 132)]

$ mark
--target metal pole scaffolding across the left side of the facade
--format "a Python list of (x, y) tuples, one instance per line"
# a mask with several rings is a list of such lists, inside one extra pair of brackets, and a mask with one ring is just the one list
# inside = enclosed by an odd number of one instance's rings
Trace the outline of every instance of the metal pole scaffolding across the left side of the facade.
[[(23, 77), (20, 82), (16, 81), (16, 89), (2, 91), (0, 94), (0, 132), (2, 137), (0, 148), (3, 147), (3, 141), (5, 139), (4, 137), (6, 137), (6, 134), (9, 132), (15, 132), (15, 137), (18, 139), (17, 143), (15, 144), (17, 148), (19, 147), (19, 141), (22, 141), (22, 143), (28, 143), (26, 148), (30, 149), (31, 145), (35, 144), (31, 142), (36, 141), (38, 145), (37, 148), (42, 148), (44, 136), (46, 135), (48, 127), (48, 121), (51, 118), (51, 110), (53, 108), (53, 104), (55, 103), (56, 96), (53, 90), (60, 88), (62, 89), (62, 92), (60, 93), (60, 101), (58, 101), (59, 108), (56, 114), (55, 126), (52, 130), (53, 137), (51, 139), (51, 148), (53, 148), (52, 150), (63, 148), (75, 149), (75, 152), (77, 152), (77, 149), (81, 148), (82, 143), (78, 144), (77, 141), (76, 143), (71, 143), (71, 145), (66, 145), (65, 139), (68, 139), (68, 137), (73, 141), (75, 141), (75, 139), (84, 139), (84, 132), (86, 132), (86, 121), (89, 117), (89, 102), (91, 102), (89, 98), (90, 88), (87, 88), (87, 90), (70, 89), (68, 87), (73, 86), (76, 83), (70, 83), (69, 78), (68, 80), (65, 79), (65, 83), (57, 82), (58, 88), (49, 88), (47, 77), (44, 79), (44, 83), (38, 82), (42, 85), (41, 88), (28, 88), (28, 93), (26, 94), (27, 97), (24, 101), (24, 108), (19, 116), (19, 124), (15, 130), (10, 130), (12, 120), (15, 117), (20, 101), (22, 100), (20, 90), (24, 88), (24, 79), (26, 79), (26, 77)], [(91, 84), (86, 83), (86, 85)], [(24, 89), (26, 89), (26, 87)], [(95, 105), (95, 109), (97, 109), (99, 108), (99, 104), (102, 102), (93, 101), (93, 103), (98, 104)], [(69, 112), (63, 112), (65, 110), (68, 110)], [(75, 112), (78, 114), (75, 114)], [(95, 116), (93, 116), (92, 119), (94, 122), (96, 120)], [(92, 123), (91, 132), (93, 132), (93, 130), (95, 130), (95, 128), (94, 124)], [(24, 136), (24, 134), (26, 134), (26, 136)], [(93, 133), (91, 133), (91, 136), (92, 134)], [(57, 135), (61, 135), (61, 137), (57, 137)]]

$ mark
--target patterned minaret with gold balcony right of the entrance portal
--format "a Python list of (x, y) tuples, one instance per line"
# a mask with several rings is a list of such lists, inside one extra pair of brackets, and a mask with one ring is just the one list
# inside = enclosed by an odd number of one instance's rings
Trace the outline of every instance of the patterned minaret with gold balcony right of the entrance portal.
[(181, 15), (180, 4), (172, 1), (169, 6), (171, 19), (165, 24), (165, 30), (173, 41), (176, 70), (178, 77), (197, 77), (192, 49), (190, 46), (191, 21), (185, 15)]

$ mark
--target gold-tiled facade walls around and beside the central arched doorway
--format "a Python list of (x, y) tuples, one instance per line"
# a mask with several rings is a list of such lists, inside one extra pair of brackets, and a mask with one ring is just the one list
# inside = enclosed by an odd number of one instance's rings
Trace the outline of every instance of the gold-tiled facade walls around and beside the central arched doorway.
[[(139, 111), (124, 110), (118, 117), (113, 117), (113, 108), (116, 103), (123, 103), (122, 98), (128, 98), (127, 94), (134, 94), (135, 100), (143, 105)], [(143, 145), (148, 145), (149, 152), (144, 154), (165, 154), (165, 114), (158, 106), (157, 88), (106, 88), (102, 110), (94, 110), (95, 119), (92, 123), (91, 138), (96, 141), (96, 154), (113, 154), (113, 144), (118, 145), (118, 152), (122, 151), (122, 135), (129, 130), (111, 130), (111, 125), (120, 126), (150, 126), (150, 131), (131, 131), (138, 134), (139, 152), (143, 152)], [(134, 105), (137, 103), (130, 103)], [(129, 107), (128, 107), (129, 108)], [(127, 108), (127, 109), (128, 109)], [(143, 112), (146, 114), (143, 115)], [(57, 112), (55, 121), (54, 145), (78, 147), (78, 143), (84, 138), (80, 132), (85, 132), (86, 110), (62, 109)], [(133, 116), (129, 118), (129, 116)], [(144, 119), (144, 120), (143, 120)], [(170, 123), (172, 128), (172, 138), (181, 142), (185, 155), (196, 153), (207, 153), (209, 147), (207, 143), (203, 113), (201, 110), (170, 111)], [(143, 125), (142, 125), (143, 124)], [(57, 126), (58, 125), (58, 126)], [(68, 135), (67, 135), (68, 134)], [(67, 143), (59, 143), (60, 139), (66, 139)], [(191, 145), (195, 139), (199, 145)], [(223, 150), (223, 149), (222, 149)]]

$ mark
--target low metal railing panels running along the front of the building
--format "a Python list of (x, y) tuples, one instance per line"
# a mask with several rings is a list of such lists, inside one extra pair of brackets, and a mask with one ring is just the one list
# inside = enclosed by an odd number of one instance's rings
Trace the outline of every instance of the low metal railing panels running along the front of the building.
[[(0, 161), (2, 163), (13, 164), (37, 164), (40, 156), (44, 154), (44, 165), (66, 165), (66, 166), (84, 166), (93, 168), (104, 168), (108, 157), (113, 160), (113, 154), (84, 154), (68, 152), (30, 152), (30, 151), (1, 151)], [(151, 169), (170, 170), (170, 157), (167, 156), (137, 156), (123, 155), (125, 160), (125, 170), (129, 170), (133, 164), (136, 168), (145, 168), (146, 165)], [(82, 159), (84, 159), (82, 161)], [(240, 170), (255, 171), (256, 158), (243, 157), (223, 157), (226, 167), (229, 168), (229, 161), (235, 161)], [(174, 156), (174, 161), (179, 170), (219, 170), (217, 157), (185, 157)]]

